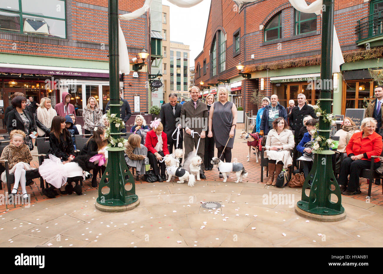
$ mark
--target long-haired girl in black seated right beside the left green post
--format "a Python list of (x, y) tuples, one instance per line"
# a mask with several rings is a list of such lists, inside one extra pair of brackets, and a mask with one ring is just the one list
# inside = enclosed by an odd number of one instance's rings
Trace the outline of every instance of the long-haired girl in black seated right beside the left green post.
[[(96, 129), (97, 128), (97, 129)], [(81, 150), (81, 155), (95, 156), (97, 154), (105, 155), (105, 147), (108, 144), (105, 138), (106, 127), (98, 126), (95, 128), (93, 135), (89, 138), (88, 142)], [(93, 169), (92, 187), (97, 187), (97, 173), (105, 171), (105, 166), (96, 166)]]

